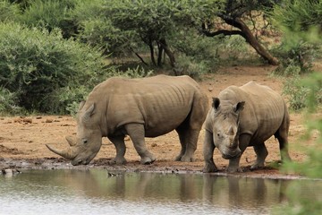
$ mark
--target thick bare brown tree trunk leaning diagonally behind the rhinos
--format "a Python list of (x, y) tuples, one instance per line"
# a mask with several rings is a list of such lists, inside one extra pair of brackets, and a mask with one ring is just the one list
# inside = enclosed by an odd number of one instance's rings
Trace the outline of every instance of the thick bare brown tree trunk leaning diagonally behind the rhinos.
[(278, 60), (272, 56), (265, 47), (263, 47), (255, 36), (251, 33), (250, 28), (242, 22), (239, 18), (228, 18), (225, 16), (221, 16), (221, 18), (229, 25), (232, 25), (235, 28), (242, 30), (242, 37), (246, 39), (246, 41), (253, 47), (259, 56), (262, 56), (264, 59), (268, 61), (268, 64), (277, 65), (279, 64)]

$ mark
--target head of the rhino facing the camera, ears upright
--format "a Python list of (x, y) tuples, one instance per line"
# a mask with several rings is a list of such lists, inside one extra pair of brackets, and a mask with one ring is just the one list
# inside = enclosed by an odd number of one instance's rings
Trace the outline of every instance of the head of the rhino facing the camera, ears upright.
[(232, 103), (228, 100), (213, 99), (215, 110), (214, 142), (224, 159), (233, 159), (241, 154), (239, 149), (239, 115), (245, 102)]

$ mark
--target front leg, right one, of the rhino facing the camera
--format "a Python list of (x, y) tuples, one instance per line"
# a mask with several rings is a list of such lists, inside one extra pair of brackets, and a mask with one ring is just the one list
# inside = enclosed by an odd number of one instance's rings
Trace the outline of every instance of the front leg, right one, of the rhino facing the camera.
[(229, 159), (229, 165), (226, 169), (227, 172), (234, 173), (234, 172), (242, 172), (242, 168), (240, 168), (240, 160), (242, 157), (242, 153), (250, 144), (250, 134), (241, 134), (239, 137), (239, 148), (241, 150), (240, 156), (237, 156), (234, 159)]

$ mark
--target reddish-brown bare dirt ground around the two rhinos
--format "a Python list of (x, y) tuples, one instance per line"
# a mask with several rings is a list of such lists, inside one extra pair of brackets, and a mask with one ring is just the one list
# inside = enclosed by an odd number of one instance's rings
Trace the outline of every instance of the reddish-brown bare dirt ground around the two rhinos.
[[(272, 89), (282, 92), (283, 82), (277, 77), (270, 75), (274, 70), (272, 66), (233, 66), (220, 69), (219, 73), (208, 74), (200, 81), (202, 89), (210, 99), (215, 97), (220, 90), (227, 86), (256, 81), (265, 84)], [(72, 116), (15, 116), (0, 117), (0, 168), (74, 168), (69, 161), (60, 158), (50, 150), (47, 150), (46, 143), (55, 148), (64, 149), (67, 142), (66, 135), (74, 135), (76, 122)], [(305, 133), (303, 116), (291, 112), (291, 127), (289, 133), (290, 155), (294, 162), (301, 162), (306, 157), (295, 142), (298, 142), (301, 134)], [(317, 136), (317, 135), (316, 135)], [(313, 135), (313, 139), (317, 138)], [(109, 165), (108, 160), (115, 156), (114, 145), (104, 138), (101, 150), (97, 157), (86, 167), (77, 168), (107, 168), (130, 171), (172, 171), (172, 172), (193, 172), (200, 173), (204, 162), (202, 156), (202, 144), (204, 131), (199, 135), (198, 149), (195, 152), (195, 161), (191, 163), (173, 161), (179, 153), (180, 143), (175, 132), (167, 133), (157, 138), (147, 138), (148, 149), (153, 152), (157, 160), (151, 165), (141, 165), (140, 157), (134, 150), (130, 140), (126, 140), (127, 151), (126, 165)], [(310, 142), (301, 142), (309, 146)], [(280, 159), (278, 142), (271, 137), (266, 142), (268, 156), (266, 159), (267, 168), (250, 171), (250, 165), (255, 161), (256, 155), (252, 148), (248, 148), (242, 155), (241, 167), (242, 176), (264, 176), (280, 177), (292, 176), (282, 173), (278, 168), (271, 168), (270, 164)], [(225, 167), (228, 160), (222, 159), (218, 150), (215, 150), (214, 159), (219, 173), (225, 174)]]

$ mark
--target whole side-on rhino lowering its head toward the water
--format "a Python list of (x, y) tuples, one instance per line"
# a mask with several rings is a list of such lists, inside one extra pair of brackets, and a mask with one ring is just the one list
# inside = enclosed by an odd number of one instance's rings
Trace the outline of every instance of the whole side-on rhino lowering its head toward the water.
[(175, 129), (182, 145), (176, 160), (192, 161), (207, 112), (207, 95), (189, 76), (114, 77), (98, 84), (80, 104), (76, 142), (66, 138), (71, 145), (67, 150), (47, 148), (71, 159), (72, 165), (89, 164), (101, 147), (102, 137), (107, 137), (116, 149), (112, 163), (123, 164), (124, 137), (129, 135), (140, 162), (149, 164), (156, 158), (144, 138)]

